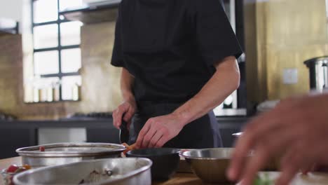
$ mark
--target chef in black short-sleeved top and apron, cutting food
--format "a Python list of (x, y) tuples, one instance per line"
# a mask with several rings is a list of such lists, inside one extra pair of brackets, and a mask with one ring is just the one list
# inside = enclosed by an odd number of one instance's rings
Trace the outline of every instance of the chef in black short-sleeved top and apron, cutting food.
[(114, 126), (137, 148), (219, 147), (213, 109), (238, 88), (240, 45), (220, 0), (123, 0), (111, 64), (122, 67)]

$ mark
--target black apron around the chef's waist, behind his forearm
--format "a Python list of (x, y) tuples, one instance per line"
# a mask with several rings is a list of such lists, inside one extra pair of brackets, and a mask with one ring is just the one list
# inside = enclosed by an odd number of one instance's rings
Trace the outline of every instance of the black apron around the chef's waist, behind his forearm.
[[(140, 130), (149, 118), (172, 113), (180, 104), (154, 104), (139, 107), (132, 119), (130, 143), (135, 143)], [(213, 111), (187, 124), (177, 137), (168, 141), (163, 147), (177, 149), (205, 149), (221, 147), (221, 137)]]

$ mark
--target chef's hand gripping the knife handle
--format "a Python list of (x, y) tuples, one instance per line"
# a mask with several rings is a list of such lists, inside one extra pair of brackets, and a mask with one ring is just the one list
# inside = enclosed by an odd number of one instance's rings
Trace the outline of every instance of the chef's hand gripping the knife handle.
[(123, 120), (128, 123), (128, 129), (130, 128), (132, 116), (135, 115), (135, 111), (137, 111), (137, 104), (135, 100), (127, 100), (123, 102), (116, 110), (113, 112), (113, 125), (114, 127), (120, 129)]

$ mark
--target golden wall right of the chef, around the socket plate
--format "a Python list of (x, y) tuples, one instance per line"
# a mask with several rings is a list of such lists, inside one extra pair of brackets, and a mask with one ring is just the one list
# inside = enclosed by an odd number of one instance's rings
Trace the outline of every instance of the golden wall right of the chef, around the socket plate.
[[(324, 0), (246, 0), (245, 27), (250, 102), (307, 93), (303, 61), (328, 54)], [(282, 82), (289, 68), (298, 70), (298, 83)]]

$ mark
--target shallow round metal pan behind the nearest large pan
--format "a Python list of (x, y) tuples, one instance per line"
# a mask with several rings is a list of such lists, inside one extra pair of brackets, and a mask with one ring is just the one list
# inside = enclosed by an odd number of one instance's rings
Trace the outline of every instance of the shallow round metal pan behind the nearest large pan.
[(62, 165), (97, 158), (115, 158), (121, 155), (125, 146), (110, 143), (56, 143), (44, 144), (45, 151), (39, 151), (40, 146), (30, 146), (17, 149), (22, 156), (22, 164), (32, 167)]

